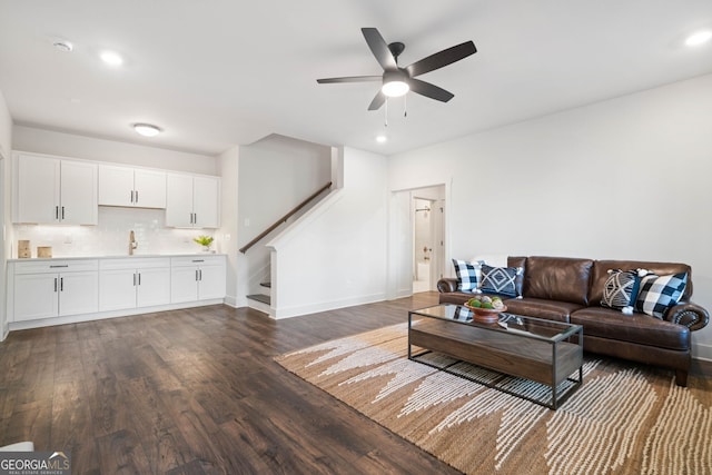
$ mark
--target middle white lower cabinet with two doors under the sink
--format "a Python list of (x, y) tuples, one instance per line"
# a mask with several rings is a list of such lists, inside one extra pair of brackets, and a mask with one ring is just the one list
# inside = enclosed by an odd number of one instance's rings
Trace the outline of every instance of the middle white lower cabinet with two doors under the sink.
[(99, 310), (122, 310), (170, 303), (170, 258), (99, 261)]

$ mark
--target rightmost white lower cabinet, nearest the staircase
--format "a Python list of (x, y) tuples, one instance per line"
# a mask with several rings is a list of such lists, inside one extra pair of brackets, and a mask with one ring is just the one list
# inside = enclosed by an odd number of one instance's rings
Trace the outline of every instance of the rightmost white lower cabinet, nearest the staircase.
[(225, 256), (170, 259), (170, 303), (225, 298)]

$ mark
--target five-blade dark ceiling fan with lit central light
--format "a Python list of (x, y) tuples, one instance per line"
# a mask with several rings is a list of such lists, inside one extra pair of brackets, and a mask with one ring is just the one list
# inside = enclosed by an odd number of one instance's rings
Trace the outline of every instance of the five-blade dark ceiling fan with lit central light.
[(405, 49), (405, 44), (402, 42), (387, 44), (376, 28), (362, 28), (360, 31), (364, 33), (368, 48), (370, 48), (370, 51), (383, 68), (383, 75), (326, 78), (317, 79), (316, 81), (319, 85), (334, 82), (382, 81), (383, 86), (370, 102), (370, 106), (368, 106), (368, 110), (378, 110), (388, 97), (404, 96), (409, 90), (419, 93), (421, 96), (429, 97), (431, 99), (447, 102), (454, 98), (455, 95), (435, 85), (416, 79), (415, 77), (443, 68), (447, 65), (452, 65), (455, 61), (459, 61), (461, 59), (467, 58), (468, 56), (477, 52), (477, 48), (475, 48), (474, 42), (465, 41), (464, 43), (456, 44), (436, 52), (435, 55), (431, 55), (427, 58), (423, 58), (411, 66), (400, 68), (398, 66), (398, 56), (400, 56)]

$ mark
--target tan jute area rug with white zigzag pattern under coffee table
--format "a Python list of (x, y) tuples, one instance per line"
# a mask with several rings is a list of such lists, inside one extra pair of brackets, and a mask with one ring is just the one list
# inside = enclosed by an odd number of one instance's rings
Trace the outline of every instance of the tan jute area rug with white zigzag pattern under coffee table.
[(583, 386), (551, 410), (408, 360), (406, 333), (395, 325), (276, 360), (464, 473), (712, 474), (709, 380), (681, 388), (672, 372), (587, 357)]

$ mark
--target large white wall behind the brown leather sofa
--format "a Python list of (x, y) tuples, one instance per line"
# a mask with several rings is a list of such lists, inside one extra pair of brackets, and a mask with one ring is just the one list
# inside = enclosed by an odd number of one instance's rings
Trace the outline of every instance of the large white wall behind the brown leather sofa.
[[(389, 189), (448, 184), (447, 259), (682, 261), (712, 309), (710, 123), (703, 76), (394, 156)], [(693, 355), (712, 359), (712, 326)]]

